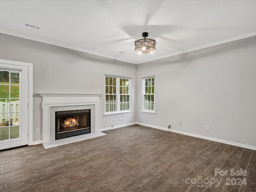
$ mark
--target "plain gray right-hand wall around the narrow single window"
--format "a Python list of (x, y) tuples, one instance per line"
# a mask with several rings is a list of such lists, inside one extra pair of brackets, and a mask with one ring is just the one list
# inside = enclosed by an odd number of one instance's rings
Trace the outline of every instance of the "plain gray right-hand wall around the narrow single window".
[(255, 36), (139, 64), (137, 93), (150, 75), (156, 114), (139, 112), (138, 94), (137, 122), (256, 146)]

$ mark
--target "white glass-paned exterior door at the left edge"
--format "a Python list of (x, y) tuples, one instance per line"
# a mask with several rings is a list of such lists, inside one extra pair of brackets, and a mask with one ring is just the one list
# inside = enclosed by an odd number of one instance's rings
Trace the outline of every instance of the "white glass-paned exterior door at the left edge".
[(0, 150), (28, 145), (28, 67), (0, 63)]

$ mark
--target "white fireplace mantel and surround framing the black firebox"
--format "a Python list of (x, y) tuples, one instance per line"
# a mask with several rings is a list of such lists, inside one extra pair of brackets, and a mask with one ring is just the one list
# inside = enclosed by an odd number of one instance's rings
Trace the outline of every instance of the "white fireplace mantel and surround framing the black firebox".
[(55, 130), (56, 111), (89, 109), (93, 110), (91, 115), (91, 131), (99, 132), (98, 111), (99, 97), (102, 94), (84, 93), (38, 93), (42, 97), (43, 109), (43, 143), (55, 140), (53, 130)]

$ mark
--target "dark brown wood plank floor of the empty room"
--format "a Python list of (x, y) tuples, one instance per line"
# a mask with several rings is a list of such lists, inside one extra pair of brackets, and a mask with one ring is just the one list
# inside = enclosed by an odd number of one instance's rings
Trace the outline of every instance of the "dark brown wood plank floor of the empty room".
[[(0, 152), (0, 190), (256, 192), (254, 150), (139, 125), (104, 133), (50, 149), (40, 144)], [(215, 175), (218, 168), (229, 173)], [(230, 176), (232, 168), (247, 175)], [(234, 185), (240, 179), (247, 184)], [(217, 180), (218, 186), (209, 183)]]

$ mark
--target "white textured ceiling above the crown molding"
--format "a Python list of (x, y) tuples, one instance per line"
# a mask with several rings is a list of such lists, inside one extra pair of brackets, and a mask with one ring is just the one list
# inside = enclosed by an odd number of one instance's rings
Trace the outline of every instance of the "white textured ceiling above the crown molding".
[[(0, 33), (134, 64), (254, 36), (255, 20), (255, 0), (0, 0)], [(142, 32), (154, 54), (134, 52)]]

